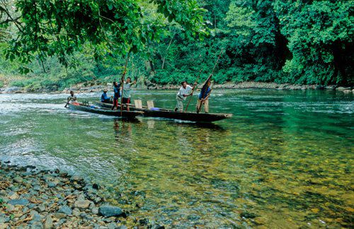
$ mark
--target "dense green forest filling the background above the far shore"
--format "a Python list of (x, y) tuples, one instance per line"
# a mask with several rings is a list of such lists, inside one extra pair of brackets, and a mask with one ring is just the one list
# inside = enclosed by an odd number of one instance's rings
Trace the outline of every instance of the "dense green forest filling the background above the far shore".
[(353, 1), (1, 1), (0, 87), (61, 90), (122, 74), (178, 84), (353, 85)]

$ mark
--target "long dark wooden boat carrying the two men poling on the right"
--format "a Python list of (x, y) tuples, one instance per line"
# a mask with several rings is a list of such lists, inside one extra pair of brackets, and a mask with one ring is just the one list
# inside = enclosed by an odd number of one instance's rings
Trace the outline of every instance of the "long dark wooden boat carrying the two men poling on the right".
[[(94, 105), (103, 108), (110, 108), (112, 104), (104, 102), (93, 102)], [(120, 108), (120, 107), (118, 107)], [(154, 107), (153, 109), (148, 109), (147, 107), (137, 108), (134, 105), (129, 106), (131, 111), (144, 112), (144, 117), (162, 117), (168, 119), (179, 119), (191, 122), (215, 122), (222, 119), (227, 119), (232, 117), (232, 114), (220, 114), (220, 113), (199, 113), (197, 112), (175, 112), (174, 110), (161, 109)]]

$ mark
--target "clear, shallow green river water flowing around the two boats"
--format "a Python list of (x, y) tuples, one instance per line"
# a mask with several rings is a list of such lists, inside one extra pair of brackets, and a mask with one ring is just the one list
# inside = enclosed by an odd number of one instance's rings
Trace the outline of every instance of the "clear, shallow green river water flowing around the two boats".
[[(215, 90), (212, 112), (234, 117), (207, 126), (74, 112), (66, 96), (0, 95), (0, 159), (104, 181), (132, 216), (168, 226), (353, 226), (352, 94)], [(175, 105), (174, 91), (132, 96)]]

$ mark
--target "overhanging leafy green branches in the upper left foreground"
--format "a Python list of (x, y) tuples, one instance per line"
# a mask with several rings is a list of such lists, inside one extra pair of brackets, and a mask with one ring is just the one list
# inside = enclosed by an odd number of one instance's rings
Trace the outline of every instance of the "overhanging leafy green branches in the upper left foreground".
[[(169, 21), (183, 26), (187, 36), (206, 34), (202, 9), (196, 1), (152, 3)], [(134, 0), (17, 0), (16, 8), (21, 18), (11, 22), (18, 28), (18, 37), (11, 41), (13, 46), (6, 57), (16, 55), (23, 63), (28, 63), (35, 55), (41, 61), (55, 55), (67, 66), (66, 56), (80, 52), (86, 42), (93, 46), (96, 58), (105, 54), (136, 53), (161, 33), (156, 24), (145, 23), (138, 1)], [(6, 9), (1, 8), (1, 11)]]

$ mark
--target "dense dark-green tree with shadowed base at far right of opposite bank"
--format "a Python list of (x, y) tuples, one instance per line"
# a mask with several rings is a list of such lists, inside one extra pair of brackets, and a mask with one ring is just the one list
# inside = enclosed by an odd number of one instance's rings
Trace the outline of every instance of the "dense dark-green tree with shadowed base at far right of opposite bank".
[(353, 1), (275, 1), (297, 83), (353, 83)]

